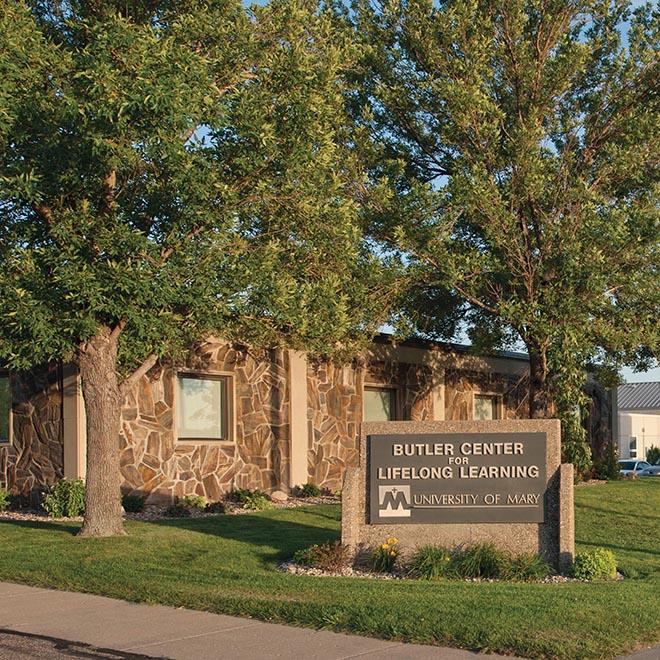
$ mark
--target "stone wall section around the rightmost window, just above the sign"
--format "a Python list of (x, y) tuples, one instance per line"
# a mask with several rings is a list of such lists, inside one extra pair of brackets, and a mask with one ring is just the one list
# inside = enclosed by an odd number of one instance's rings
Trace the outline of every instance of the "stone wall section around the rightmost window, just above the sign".
[(502, 397), (504, 419), (529, 416), (529, 378), (484, 371), (445, 369), (445, 419), (471, 420), (472, 394), (485, 392)]

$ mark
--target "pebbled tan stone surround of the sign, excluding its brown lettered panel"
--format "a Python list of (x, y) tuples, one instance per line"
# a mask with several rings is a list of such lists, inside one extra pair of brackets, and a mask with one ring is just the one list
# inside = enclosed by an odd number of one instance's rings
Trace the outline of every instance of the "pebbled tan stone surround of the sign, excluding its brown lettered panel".
[[(546, 519), (544, 523), (474, 524), (368, 524), (367, 436), (408, 433), (533, 433), (547, 434)], [(388, 536), (399, 539), (404, 552), (420, 545), (458, 545), (491, 541), (514, 553), (537, 552), (555, 568), (572, 559), (572, 482), (560, 474), (560, 425), (558, 420), (501, 420), (474, 422), (369, 422), (362, 425), (359, 467), (346, 471), (342, 491), (342, 542), (354, 551), (383, 543)], [(560, 488), (560, 480), (563, 488)], [(561, 495), (560, 495), (561, 494)], [(562, 499), (563, 498), (563, 499)], [(563, 525), (560, 544), (560, 527)], [(570, 529), (569, 529), (570, 527)], [(561, 552), (561, 555), (560, 555)], [(561, 562), (560, 562), (561, 558)]]

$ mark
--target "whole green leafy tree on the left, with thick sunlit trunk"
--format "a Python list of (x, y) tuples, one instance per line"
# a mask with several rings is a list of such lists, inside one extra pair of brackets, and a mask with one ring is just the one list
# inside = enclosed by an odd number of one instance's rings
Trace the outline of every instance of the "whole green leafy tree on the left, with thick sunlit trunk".
[(304, 0), (1, 4), (0, 358), (79, 366), (83, 535), (123, 531), (120, 407), (159, 359), (209, 332), (342, 351), (377, 325), (354, 56)]

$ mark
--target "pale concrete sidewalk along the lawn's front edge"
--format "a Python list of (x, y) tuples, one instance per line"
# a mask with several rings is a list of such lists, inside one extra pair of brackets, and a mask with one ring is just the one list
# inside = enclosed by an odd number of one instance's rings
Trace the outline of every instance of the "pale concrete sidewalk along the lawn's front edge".
[[(0, 582), (0, 660), (502, 658)], [(660, 649), (631, 656), (658, 660)], [(509, 660), (512, 656), (507, 656)]]

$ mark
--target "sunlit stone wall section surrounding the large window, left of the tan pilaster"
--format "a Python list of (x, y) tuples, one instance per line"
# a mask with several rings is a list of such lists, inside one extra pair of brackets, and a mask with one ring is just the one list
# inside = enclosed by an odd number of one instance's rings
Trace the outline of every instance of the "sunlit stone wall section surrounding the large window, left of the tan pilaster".
[(232, 376), (233, 441), (176, 441), (174, 371), (153, 369), (124, 402), (122, 489), (158, 502), (191, 494), (217, 500), (233, 488), (269, 492), (288, 484), (287, 354), (281, 350), (252, 354), (209, 341), (186, 368)]

